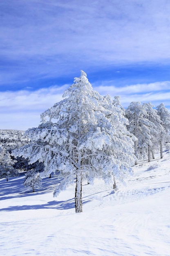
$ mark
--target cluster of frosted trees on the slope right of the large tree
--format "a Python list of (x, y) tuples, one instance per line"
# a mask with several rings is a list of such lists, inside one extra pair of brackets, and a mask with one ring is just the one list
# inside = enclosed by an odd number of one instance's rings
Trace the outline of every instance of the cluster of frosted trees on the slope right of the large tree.
[[(157, 109), (151, 103), (132, 102), (125, 111), (128, 118), (127, 126), (137, 140), (134, 142), (134, 154), (137, 159), (148, 157), (150, 162), (151, 154), (160, 150), (163, 157), (162, 148), (170, 141), (170, 113), (161, 103)], [(137, 160), (135, 162), (137, 164)]]

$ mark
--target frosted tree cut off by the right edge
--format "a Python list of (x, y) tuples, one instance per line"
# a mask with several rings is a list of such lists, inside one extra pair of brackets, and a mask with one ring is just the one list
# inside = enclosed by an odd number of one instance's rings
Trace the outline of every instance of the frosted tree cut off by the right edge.
[(157, 106), (157, 114), (161, 118), (161, 125), (165, 129), (165, 136), (161, 134), (162, 141), (163, 141), (163, 146), (168, 145), (168, 148), (170, 148), (170, 112), (168, 109), (164, 106), (163, 103), (161, 103), (159, 106)]

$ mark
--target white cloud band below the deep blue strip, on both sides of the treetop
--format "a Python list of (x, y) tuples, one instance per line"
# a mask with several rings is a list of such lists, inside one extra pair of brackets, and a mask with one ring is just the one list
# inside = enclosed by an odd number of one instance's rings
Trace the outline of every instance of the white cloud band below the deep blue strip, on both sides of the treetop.
[[(119, 95), (124, 108), (127, 108), (132, 101), (141, 101), (141, 103), (151, 101), (155, 106), (163, 102), (170, 110), (170, 92), (162, 90), (163, 87), (167, 89), (169, 85), (170, 81), (165, 81), (119, 88), (93, 85), (93, 88), (103, 96), (110, 94), (112, 99)], [(27, 130), (37, 127), (40, 124), (40, 114), (62, 100), (63, 92), (68, 87), (69, 85), (63, 85), (63, 87), (53, 86), (36, 91), (1, 92), (0, 128)]]

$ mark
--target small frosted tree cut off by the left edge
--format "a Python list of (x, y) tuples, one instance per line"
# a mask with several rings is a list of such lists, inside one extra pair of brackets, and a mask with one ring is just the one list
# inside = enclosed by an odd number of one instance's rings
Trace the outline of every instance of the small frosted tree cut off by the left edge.
[(10, 153), (0, 147), (0, 178), (5, 177), (8, 181), (8, 177), (15, 176), (16, 170), (13, 168), (14, 163)]

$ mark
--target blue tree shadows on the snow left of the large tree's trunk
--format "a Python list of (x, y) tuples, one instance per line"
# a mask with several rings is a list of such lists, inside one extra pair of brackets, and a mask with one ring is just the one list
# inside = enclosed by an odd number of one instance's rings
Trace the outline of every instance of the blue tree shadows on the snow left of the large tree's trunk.
[[(11, 177), (7, 182), (6, 179), (0, 180), (0, 200), (11, 199), (11, 198), (23, 198), (27, 196), (41, 195), (44, 193), (53, 193), (56, 185), (59, 184), (61, 179), (58, 175), (53, 177), (45, 177), (42, 179), (42, 186), (35, 188), (35, 192), (32, 193), (31, 188), (26, 188), (23, 184), (25, 175), (21, 177)], [(90, 202), (90, 199), (83, 200), (83, 204)], [(2, 208), (0, 211), (22, 211), (22, 210), (35, 210), (35, 209), (58, 209), (67, 210), (75, 207), (74, 198), (66, 201), (51, 201), (45, 204), (35, 205), (21, 205), (21, 206), (10, 206)]]

